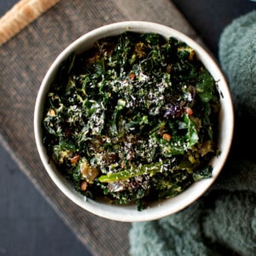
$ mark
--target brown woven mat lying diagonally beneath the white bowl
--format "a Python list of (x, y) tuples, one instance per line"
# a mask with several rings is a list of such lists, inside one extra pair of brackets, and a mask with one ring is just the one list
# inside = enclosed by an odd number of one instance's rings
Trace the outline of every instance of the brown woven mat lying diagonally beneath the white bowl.
[(85, 32), (121, 20), (154, 21), (198, 39), (169, 0), (61, 0), (0, 48), (0, 141), (93, 255), (127, 255), (130, 224), (85, 212), (55, 188), (38, 157), (33, 110), (44, 74), (61, 50)]

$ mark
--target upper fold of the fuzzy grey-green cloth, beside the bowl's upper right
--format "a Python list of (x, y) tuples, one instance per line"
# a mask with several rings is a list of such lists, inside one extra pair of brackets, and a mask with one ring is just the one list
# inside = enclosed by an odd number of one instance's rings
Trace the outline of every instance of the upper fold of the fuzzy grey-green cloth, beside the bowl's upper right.
[(238, 115), (256, 116), (255, 45), (255, 10), (234, 20), (225, 28), (219, 40), (220, 64), (230, 81), (230, 90)]

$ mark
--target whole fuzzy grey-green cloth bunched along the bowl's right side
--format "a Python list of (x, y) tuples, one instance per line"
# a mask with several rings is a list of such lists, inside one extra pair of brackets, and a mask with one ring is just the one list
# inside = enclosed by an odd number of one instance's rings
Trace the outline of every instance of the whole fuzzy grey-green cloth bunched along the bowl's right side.
[[(255, 11), (243, 15), (219, 38), (237, 122), (256, 114), (255, 21)], [(247, 126), (240, 128), (235, 137), (244, 139)], [(255, 142), (254, 133), (250, 136), (247, 144)], [(241, 145), (237, 139), (223, 172), (198, 201), (166, 218), (132, 224), (131, 255), (256, 255), (256, 161), (247, 152), (253, 147), (242, 148), (246, 154), (237, 157)]]

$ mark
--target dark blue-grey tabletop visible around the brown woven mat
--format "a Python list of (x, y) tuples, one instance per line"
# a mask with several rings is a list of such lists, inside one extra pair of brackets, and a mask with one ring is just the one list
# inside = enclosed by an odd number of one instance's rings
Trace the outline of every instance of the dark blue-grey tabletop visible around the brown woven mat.
[[(17, 1), (0, 0), (0, 15)], [(217, 56), (224, 26), (255, 9), (247, 0), (174, 0)], [(0, 146), (0, 255), (89, 255)]]

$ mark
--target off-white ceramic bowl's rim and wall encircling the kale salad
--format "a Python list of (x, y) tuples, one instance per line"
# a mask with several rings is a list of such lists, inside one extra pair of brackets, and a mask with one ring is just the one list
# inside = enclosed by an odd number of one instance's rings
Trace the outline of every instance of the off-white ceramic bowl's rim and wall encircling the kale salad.
[[(221, 150), (221, 154), (211, 160), (210, 164), (213, 167), (212, 177), (192, 184), (189, 189), (186, 189), (183, 193), (171, 199), (154, 202), (150, 205), (150, 207), (147, 207), (142, 212), (137, 211), (137, 205), (110, 205), (108, 203), (90, 200), (79, 194), (79, 192), (73, 189), (70, 183), (67, 182), (66, 178), (62, 177), (60, 172), (56, 170), (55, 165), (51, 161), (49, 162), (49, 156), (47, 155), (44, 144), (42, 142), (41, 123), (43, 119), (44, 100), (49, 90), (49, 85), (53, 82), (61, 62), (64, 61), (71, 52), (76, 51), (81, 53), (84, 50), (90, 49), (96, 40), (118, 35), (122, 32), (125, 32), (127, 28), (129, 28), (131, 32), (156, 32), (166, 38), (172, 36), (189, 44), (190, 47), (195, 49), (197, 56), (201, 59), (205, 67), (207, 67), (209, 72), (212, 74), (212, 77), (218, 81), (218, 88), (223, 95), (223, 97), (220, 98), (221, 111), (219, 113), (218, 137), (218, 148)], [(67, 49), (64, 49), (61, 54), (57, 56), (54, 63), (51, 65), (51, 67), (49, 67), (49, 70), (41, 84), (40, 90), (38, 91), (34, 112), (34, 131), (38, 153), (44, 164), (44, 167), (48, 172), (49, 177), (52, 178), (56, 186), (61, 189), (67, 198), (78, 204), (84, 210), (92, 212), (103, 218), (124, 222), (137, 222), (162, 218), (172, 213), (178, 212), (197, 200), (212, 185), (216, 177), (218, 177), (219, 172), (221, 172), (221, 169), (224, 166), (224, 162), (230, 151), (234, 126), (233, 116), (234, 114), (232, 101), (230, 98), (230, 90), (225, 82), (224, 75), (220, 71), (216, 62), (212, 60), (212, 57), (207, 54), (205, 49), (202, 49), (201, 46), (195, 43), (195, 41), (191, 38), (185, 36), (181, 32), (177, 32), (170, 27), (151, 22), (125, 21), (114, 23), (108, 26), (102, 26), (96, 30), (84, 34), (84, 36), (77, 39), (75, 42), (73, 42), (73, 44), (70, 44)]]

